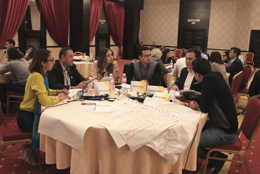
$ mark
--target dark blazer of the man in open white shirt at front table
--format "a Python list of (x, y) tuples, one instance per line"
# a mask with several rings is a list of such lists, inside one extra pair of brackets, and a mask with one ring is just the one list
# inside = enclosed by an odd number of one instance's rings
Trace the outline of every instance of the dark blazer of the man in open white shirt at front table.
[[(181, 70), (181, 73), (180, 73), (180, 79), (178, 81), (176, 81), (176, 86), (178, 86), (179, 90), (182, 90), (184, 88), (184, 83), (185, 83), (185, 80), (188, 76), (188, 68), (185, 67)], [(198, 91), (198, 92), (201, 92), (201, 83), (199, 83), (195, 77), (193, 78), (192, 82), (191, 82), (191, 87), (190, 87), (190, 90), (194, 90), (194, 91)]]

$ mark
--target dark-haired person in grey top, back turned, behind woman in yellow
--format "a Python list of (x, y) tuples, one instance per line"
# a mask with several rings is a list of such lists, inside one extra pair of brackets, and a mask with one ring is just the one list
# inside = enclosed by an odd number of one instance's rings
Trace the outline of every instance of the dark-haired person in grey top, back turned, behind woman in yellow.
[(0, 68), (0, 75), (11, 71), (12, 75), (18, 80), (18, 82), (0, 84), (0, 100), (4, 113), (6, 113), (7, 106), (6, 91), (24, 93), (25, 84), (30, 74), (28, 63), (24, 59), (21, 59), (21, 55), (16, 48), (9, 48), (6, 57), (7, 64)]

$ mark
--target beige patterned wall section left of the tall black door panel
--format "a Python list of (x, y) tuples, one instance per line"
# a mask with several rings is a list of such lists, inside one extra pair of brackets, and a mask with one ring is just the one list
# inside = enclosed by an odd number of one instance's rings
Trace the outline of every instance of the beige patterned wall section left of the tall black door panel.
[(145, 45), (177, 46), (180, 0), (144, 0), (139, 41)]

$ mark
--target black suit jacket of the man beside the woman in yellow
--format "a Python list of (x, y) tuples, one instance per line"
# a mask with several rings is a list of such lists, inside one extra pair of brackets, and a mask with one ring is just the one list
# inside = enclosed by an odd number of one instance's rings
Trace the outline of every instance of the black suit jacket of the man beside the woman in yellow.
[(69, 67), (69, 78), (70, 85), (64, 85), (64, 74), (62, 71), (60, 60), (55, 60), (55, 64), (53, 65), (52, 70), (47, 71), (48, 82), (50, 89), (60, 90), (60, 89), (68, 89), (70, 86), (76, 86), (76, 83), (86, 81), (84, 77), (79, 73), (76, 69), (76, 65), (73, 63), (72, 66)]

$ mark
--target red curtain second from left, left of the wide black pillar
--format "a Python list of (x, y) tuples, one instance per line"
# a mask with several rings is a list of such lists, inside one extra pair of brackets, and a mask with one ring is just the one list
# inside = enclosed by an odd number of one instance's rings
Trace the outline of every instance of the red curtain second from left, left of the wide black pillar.
[(60, 46), (68, 46), (69, 0), (36, 0), (50, 37)]

